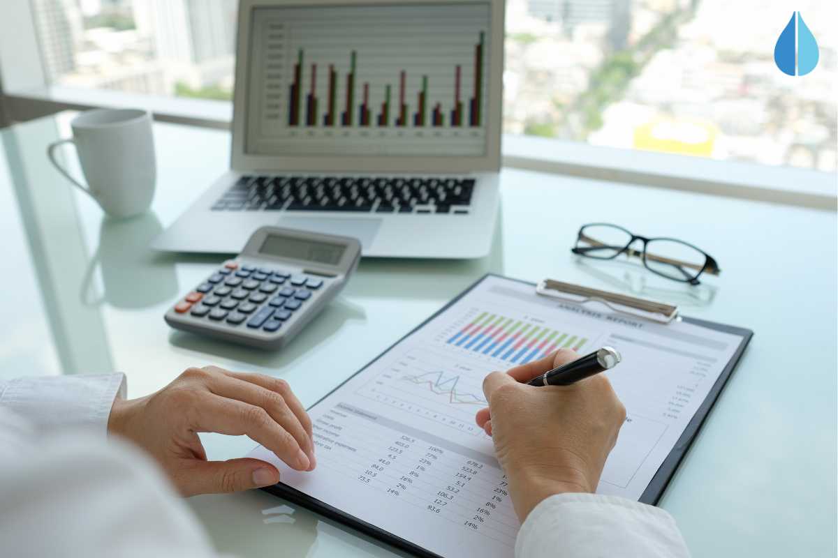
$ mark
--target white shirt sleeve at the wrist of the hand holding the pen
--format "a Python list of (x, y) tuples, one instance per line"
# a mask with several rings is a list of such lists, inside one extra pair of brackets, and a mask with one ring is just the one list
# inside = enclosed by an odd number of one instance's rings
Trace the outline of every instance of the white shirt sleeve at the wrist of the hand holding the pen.
[(663, 509), (598, 494), (556, 494), (521, 525), (515, 558), (688, 558), (680, 530)]

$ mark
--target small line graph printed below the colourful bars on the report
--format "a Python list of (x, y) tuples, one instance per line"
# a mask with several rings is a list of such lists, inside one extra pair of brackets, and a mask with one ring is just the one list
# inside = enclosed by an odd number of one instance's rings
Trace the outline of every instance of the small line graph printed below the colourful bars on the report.
[(412, 349), (396, 356), (357, 393), (401, 412), (480, 436), (483, 430), (475, 425), (474, 413), (486, 406), (483, 378), (491, 370), (435, 351)]

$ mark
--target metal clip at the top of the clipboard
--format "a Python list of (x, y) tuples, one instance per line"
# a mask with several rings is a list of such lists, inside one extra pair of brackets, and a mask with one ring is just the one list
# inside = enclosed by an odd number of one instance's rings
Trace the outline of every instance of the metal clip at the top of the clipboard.
[(564, 300), (577, 305), (598, 302), (620, 314), (632, 315), (662, 324), (678, 320), (678, 307), (665, 305), (653, 300), (638, 299), (626, 294), (609, 293), (605, 290), (591, 289), (577, 284), (562, 283), (555, 279), (544, 279), (535, 286), (535, 292), (552, 299)]

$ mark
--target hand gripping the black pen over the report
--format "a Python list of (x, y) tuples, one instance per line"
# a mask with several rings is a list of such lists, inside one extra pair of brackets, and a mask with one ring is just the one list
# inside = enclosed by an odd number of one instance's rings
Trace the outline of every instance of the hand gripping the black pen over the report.
[(603, 374), (571, 386), (526, 385), (577, 358), (560, 349), (484, 380), (489, 407), (478, 411), (477, 423), (494, 441), (522, 523), (548, 496), (596, 490), (625, 421), (625, 407)]

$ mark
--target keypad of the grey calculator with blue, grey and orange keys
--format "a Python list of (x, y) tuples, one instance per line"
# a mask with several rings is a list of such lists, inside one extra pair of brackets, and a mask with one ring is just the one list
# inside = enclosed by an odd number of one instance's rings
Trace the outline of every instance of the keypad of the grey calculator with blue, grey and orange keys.
[(175, 305), (178, 314), (230, 327), (245, 324), (268, 333), (279, 330), (323, 286), (323, 279), (226, 262)]

